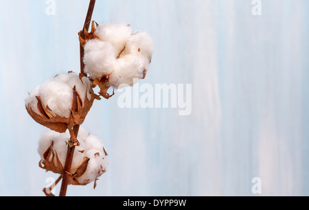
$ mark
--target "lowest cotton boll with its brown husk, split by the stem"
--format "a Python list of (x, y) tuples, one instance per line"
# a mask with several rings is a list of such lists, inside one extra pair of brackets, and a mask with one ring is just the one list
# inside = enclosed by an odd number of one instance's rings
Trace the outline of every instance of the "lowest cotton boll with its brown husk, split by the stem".
[[(44, 170), (63, 174), (69, 138), (69, 132), (44, 132), (38, 146), (38, 154), (41, 156), (39, 166)], [(69, 185), (87, 185), (95, 182), (96, 186), (96, 180), (108, 167), (106, 148), (98, 137), (89, 134), (84, 128), (80, 128), (78, 140), (80, 145), (74, 150)]]

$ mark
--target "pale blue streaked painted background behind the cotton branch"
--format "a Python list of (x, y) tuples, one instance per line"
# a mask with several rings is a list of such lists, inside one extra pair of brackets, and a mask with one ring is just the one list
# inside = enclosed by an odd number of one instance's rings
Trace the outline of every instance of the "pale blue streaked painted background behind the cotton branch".
[[(52, 173), (38, 167), (45, 130), (27, 92), (79, 71), (77, 33), (88, 1), (0, 1), (0, 195), (41, 196)], [(72, 196), (309, 195), (309, 2), (98, 0), (93, 19), (124, 21), (155, 40), (141, 84), (192, 84), (192, 115), (96, 102), (84, 127), (104, 139), (110, 170)], [(59, 187), (56, 187), (57, 191)]]

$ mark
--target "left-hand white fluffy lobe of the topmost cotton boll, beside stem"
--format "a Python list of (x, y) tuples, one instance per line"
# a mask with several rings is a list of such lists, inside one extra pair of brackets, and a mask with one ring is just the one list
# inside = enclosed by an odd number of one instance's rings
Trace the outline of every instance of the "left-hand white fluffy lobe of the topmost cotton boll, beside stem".
[(117, 58), (116, 48), (108, 42), (93, 39), (84, 46), (84, 71), (91, 79), (109, 75)]

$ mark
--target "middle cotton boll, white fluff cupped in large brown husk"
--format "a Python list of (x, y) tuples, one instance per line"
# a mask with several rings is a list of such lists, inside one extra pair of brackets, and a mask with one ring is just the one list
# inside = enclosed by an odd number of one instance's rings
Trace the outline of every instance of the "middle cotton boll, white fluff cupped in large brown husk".
[(37, 86), (25, 107), (38, 124), (62, 133), (83, 123), (94, 99), (88, 78), (67, 73)]

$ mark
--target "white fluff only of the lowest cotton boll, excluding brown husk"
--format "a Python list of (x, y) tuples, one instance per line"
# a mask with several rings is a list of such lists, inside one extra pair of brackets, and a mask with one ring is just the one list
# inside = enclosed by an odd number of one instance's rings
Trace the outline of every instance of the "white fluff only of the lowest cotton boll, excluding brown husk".
[[(62, 167), (65, 167), (67, 142), (69, 139), (70, 135), (68, 131), (63, 134), (52, 130), (43, 132), (38, 145), (38, 154), (40, 154), (42, 161), (44, 161), (43, 154), (52, 145), (54, 151), (58, 155)], [(76, 149), (74, 150), (71, 173), (74, 174), (80, 165), (82, 165), (83, 161), (88, 158), (89, 163), (87, 165), (87, 170), (78, 178), (78, 182), (83, 185), (95, 181), (99, 176), (106, 172), (108, 159), (106, 157), (106, 149), (98, 137), (89, 134), (87, 130), (81, 127), (77, 139), (80, 141), (80, 146), (76, 146)], [(56, 161), (54, 161), (54, 163), (56, 163)]]

